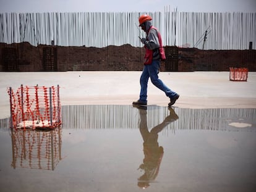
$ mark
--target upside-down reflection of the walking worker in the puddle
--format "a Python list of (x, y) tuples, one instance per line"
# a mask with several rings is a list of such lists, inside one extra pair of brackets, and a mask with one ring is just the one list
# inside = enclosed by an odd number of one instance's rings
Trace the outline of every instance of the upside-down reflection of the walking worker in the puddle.
[(158, 144), (158, 133), (163, 130), (166, 125), (179, 119), (173, 109), (169, 109), (170, 115), (166, 117), (162, 123), (148, 131), (147, 126), (147, 111), (139, 109), (140, 111), (140, 133), (143, 138), (143, 164), (139, 169), (145, 173), (138, 178), (138, 186), (140, 188), (147, 188), (150, 182), (153, 182), (158, 175), (160, 164), (163, 158), (163, 147)]

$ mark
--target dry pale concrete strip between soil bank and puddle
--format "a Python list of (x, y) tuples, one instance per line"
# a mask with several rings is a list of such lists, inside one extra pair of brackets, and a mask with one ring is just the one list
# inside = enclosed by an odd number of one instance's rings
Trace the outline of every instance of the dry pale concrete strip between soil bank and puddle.
[[(7, 88), (21, 84), (61, 87), (62, 105), (131, 104), (139, 99), (141, 72), (1, 72), (0, 118), (9, 117)], [(160, 72), (159, 77), (180, 94), (182, 108), (255, 108), (256, 72), (247, 81), (229, 81), (229, 72)], [(148, 104), (167, 106), (169, 98), (148, 82)]]

